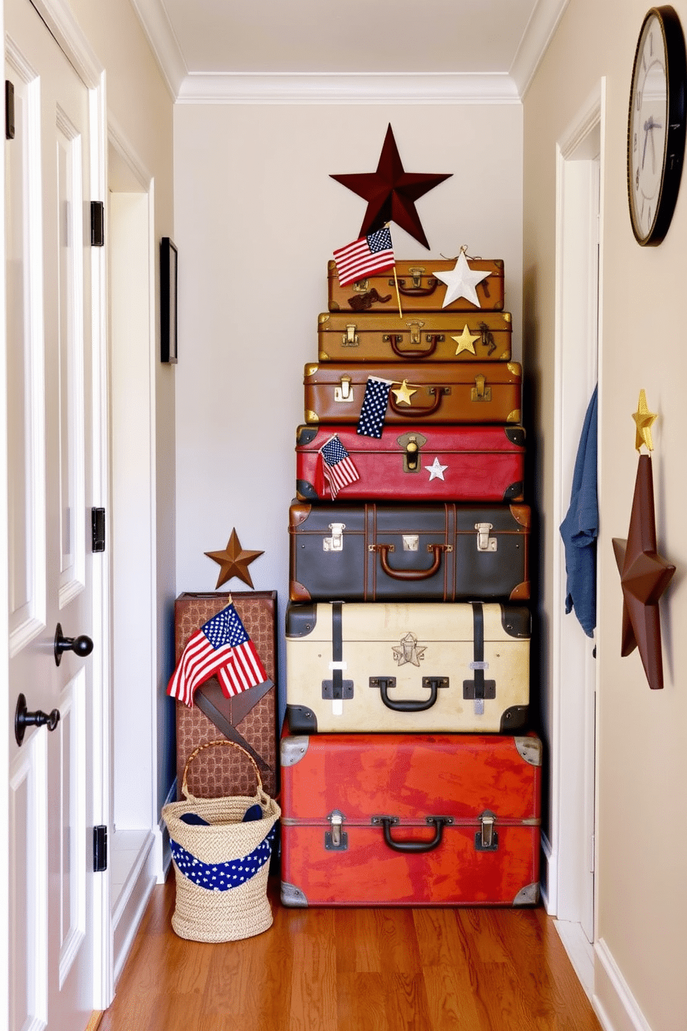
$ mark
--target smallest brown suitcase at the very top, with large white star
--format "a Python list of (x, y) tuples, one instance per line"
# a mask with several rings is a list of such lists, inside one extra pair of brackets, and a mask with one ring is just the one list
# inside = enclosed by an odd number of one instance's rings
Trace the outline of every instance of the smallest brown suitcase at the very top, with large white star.
[[(446, 284), (432, 273), (449, 272), (455, 268), (455, 261), (421, 258), (419, 261), (398, 261), (396, 274), (399, 279), (401, 307), (407, 311), (503, 311), (504, 310), (504, 263), (501, 260), (482, 261), (469, 258), (470, 268), (488, 272), (486, 278), (477, 284), (476, 293), (479, 307), (459, 297), (442, 308), (446, 297)], [(328, 265), (328, 308), (330, 311), (399, 311), (393, 271), (379, 272), (377, 275), (358, 279), (347, 287), (339, 285), (335, 261)]]

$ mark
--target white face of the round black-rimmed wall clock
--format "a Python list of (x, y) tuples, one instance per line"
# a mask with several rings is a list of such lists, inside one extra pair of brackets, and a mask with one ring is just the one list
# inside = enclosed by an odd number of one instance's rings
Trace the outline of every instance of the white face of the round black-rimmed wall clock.
[(661, 23), (645, 21), (630, 93), (627, 176), (632, 228), (648, 242), (656, 225), (667, 143), (667, 72)]

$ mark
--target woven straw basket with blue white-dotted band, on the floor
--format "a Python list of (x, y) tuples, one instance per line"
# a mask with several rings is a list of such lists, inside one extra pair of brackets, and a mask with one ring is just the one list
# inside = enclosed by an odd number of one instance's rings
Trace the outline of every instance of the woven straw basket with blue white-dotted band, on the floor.
[[(244, 753), (255, 772), (254, 796), (196, 798), (188, 793), (191, 763), (205, 749), (212, 747)], [(186, 760), (181, 794), (182, 801), (171, 802), (162, 810), (176, 876), (172, 928), (179, 937), (193, 941), (237, 941), (262, 934), (272, 925), (267, 877), (274, 825), (281, 810), (264, 792), (254, 760), (234, 741), (203, 744)], [(246, 810), (255, 804), (263, 818), (242, 823)], [(209, 826), (185, 823), (181, 817), (186, 813), (201, 818)]]

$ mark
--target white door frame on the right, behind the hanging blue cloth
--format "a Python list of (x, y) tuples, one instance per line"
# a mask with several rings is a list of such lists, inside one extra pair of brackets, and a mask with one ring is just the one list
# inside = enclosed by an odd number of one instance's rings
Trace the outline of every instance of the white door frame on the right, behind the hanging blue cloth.
[[(602, 78), (556, 146), (553, 511), (550, 530), (553, 560), (552, 818), (551, 841), (546, 850), (547, 907), (549, 912), (557, 916), (558, 921), (579, 925), (581, 938), (584, 938), (581, 929), (587, 904), (584, 878), (595, 866), (594, 710), (597, 668), (592, 654), (592, 639), (585, 635), (573, 613), (564, 613), (565, 558), (558, 528), (570, 504), (572, 468), (579, 432), (597, 381), (600, 394), (605, 110), (606, 80)], [(572, 168), (575, 163), (579, 165), (577, 169)], [(594, 181), (596, 163), (598, 179)], [(566, 172), (571, 171), (576, 175), (572, 186), (570, 174), (565, 182)], [(571, 203), (578, 205), (578, 217), (582, 211), (579, 225), (574, 226), (572, 233), (565, 224)], [(598, 212), (597, 219), (595, 211)], [(580, 226), (584, 240), (579, 250), (581, 258), (576, 261), (576, 241), (571, 239), (571, 235), (577, 233)], [(598, 242), (597, 274), (590, 272), (588, 261), (585, 262), (583, 257), (584, 247), (588, 256), (593, 244), (592, 234)], [(579, 242), (577, 246), (580, 248)], [(571, 313), (573, 305), (575, 310)], [(591, 332), (592, 327), (597, 327), (597, 335)], [(581, 340), (586, 341), (582, 350)], [(570, 360), (565, 361), (565, 355), (575, 356), (573, 364)], [(565, 677), (570, 683), (572, 665), (579, 683), (575, 694), (564, 687)], [(595, 926), (593, 888), (591, 910)], [(589, 958), (591, 944), (586, 938), (581, 944)]]

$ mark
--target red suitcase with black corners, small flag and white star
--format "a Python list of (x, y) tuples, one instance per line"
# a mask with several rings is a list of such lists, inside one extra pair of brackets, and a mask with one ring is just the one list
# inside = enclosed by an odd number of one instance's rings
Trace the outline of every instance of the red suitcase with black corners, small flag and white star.
[(409, 426), (366, 437), (351, 426), (299, 426), (296, 494), (331, 501), (320, 448), (338, 436), (359, 476), (339, 490), (346, 500), (521, 501), (525, 431), (521, 426)]

